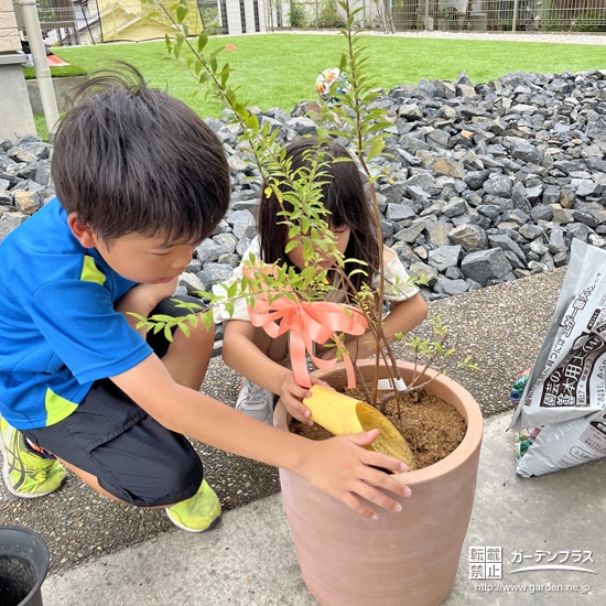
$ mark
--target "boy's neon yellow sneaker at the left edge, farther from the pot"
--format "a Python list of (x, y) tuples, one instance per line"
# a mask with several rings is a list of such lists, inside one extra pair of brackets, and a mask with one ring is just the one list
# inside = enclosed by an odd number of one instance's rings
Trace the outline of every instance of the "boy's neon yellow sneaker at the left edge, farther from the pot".
[(66, 477), (65, 467), (53, 456), (42, 456), (25, 445), (23, 434), (0, 418), (2, 478), (9, 493), (35, 499), (58, 490)]

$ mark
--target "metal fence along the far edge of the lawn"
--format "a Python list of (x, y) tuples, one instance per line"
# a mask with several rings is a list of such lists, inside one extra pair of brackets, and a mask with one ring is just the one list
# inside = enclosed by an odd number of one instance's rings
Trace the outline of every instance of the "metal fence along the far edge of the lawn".
[[(342, 28), (336, 0), (188, 0), (190, 33), (246, 34)], [(358, 0), (357, 25), (407, 30), (606, 32), (606, 0)], [(174, 34), (140, 0), (37, 0), (47, 44), (163, 39)]]

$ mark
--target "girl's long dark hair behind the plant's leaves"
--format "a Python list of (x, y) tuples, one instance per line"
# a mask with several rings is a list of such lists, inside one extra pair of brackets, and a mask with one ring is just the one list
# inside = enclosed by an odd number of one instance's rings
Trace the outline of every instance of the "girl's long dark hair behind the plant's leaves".
[[(335, 229), (349, 227), (351, 234), (345, 258), (359, 259), (368, 263), (367, 266), (347, 263), (345, 271), (350, 273), (359, 268), (368, 274), (358, 272), (350, 278), (356, 290), (359, 290), (365, 282), (371, 285), (379, 264), (378, 238), (358, 166), (343, 145), (334, 142), (320, 144), (317, 139), (310, 138), (299, 139), (286, 147), (286, 158), (292, 161), (291, 171), (310, 166), (309, 154), (313, 154), (313, 150), (326, 154), (326, 164), (322, 166), (322, 172), (327, 174), (321, 178), (327, 181), (322, 187), (322, 193), (324, 206), (331, 215), (326, 216), (325, 220)], [(332, 158), (347, 158), (349, 161), (331, 162)], [(264, 190), (266, 186), (261, 191)], [(289, 209), (288, 206), (286, 209)], [(288, 226), (280, 225), (281, 217), (278, 216), (280, 210), (280, 203), (274, 194), (270, 197), (266, 197), (264, 193), (261, 194), (258, 227), (261, 259), (267, 263), (289, 263), (284, 253)]]

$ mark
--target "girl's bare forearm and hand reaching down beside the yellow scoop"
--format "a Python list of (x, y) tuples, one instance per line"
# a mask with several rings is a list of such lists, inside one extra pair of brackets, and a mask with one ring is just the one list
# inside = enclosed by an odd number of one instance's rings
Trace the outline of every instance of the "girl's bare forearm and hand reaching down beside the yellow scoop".
[[(278, 393), (292, 416), (311, 425), (310, 409), (301, 401), (303, 398), (311, 397), (310, 390), (296, 383), (292, 370), (273, 361), (255, 345), (255, 332), (258, 328), (244, 320), (230, 320), (225, 322), (224, 329), (225, 364), (253, 383), (269, 389), (272, 393)], [(311, 380), (312, 385), (329, 387), (315, 377), (311, 377)]]

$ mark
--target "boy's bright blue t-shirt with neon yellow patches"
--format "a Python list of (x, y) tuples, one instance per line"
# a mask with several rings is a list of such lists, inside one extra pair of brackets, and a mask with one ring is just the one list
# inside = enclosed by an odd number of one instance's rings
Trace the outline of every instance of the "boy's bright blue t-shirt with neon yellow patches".
[(84, 248), (55, 198), (0, 245), (0, 414), (19, 430), (68, 416), (97, 379), (152, 349), (115, 302), (136, 282)]

